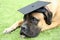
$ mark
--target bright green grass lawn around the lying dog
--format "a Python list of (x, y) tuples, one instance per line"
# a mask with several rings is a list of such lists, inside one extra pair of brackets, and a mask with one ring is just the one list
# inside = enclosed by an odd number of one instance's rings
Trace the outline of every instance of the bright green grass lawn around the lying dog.
[(3, 30), (23, 18), (17, 10), (37, 0), (0, 0), (0, 40), (60, 40), (60, 27), (41, 32), (35, 38), (21, 38), (20, 28), (10, 34), (3, 34)]

